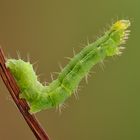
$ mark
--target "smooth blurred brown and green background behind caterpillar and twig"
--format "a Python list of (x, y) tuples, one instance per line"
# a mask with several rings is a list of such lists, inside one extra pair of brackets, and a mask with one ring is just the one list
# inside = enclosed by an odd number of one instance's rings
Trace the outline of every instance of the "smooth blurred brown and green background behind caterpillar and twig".
[[(97, 65), (79, 100), (72, 96), (60, 115), (37, 114), (51, 140), (140, 139), (140, 2), (139, 0), (0, 0), (0, 44), (8, 57), (17, 52), (38, 62), (40, 80), (65, 66), (83, 44), (100, 36), (107, 25), (130, 19), (131, 36), (121, 57)], [(32, 132), (0, 80), (0, 140), (34, 140)]]

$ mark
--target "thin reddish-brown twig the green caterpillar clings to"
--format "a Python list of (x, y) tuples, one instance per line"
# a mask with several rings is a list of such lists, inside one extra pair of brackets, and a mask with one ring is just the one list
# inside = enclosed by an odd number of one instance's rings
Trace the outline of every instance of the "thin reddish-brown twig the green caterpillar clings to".
[(19, 98), (19, 87), (16, 84), (16, 81), (10, 70), (5, 65), (6, 59), (3, 53), (2, 48), (0, 48), (0, 75), (5, 83), (8, 91), (10, 92), (15, 104), (17, 105), (19, 111), (23, 115), (25, 121), (27, 122), (28, 126), (34, 133), (37, 140), (49, 140), (48, 135), (45, 133), (44, 129), (41, 127), (40, 123), (36, 119), (35, 115), (31, 115), (28, 110), (29, 106), (27, 102), (23, 99)]

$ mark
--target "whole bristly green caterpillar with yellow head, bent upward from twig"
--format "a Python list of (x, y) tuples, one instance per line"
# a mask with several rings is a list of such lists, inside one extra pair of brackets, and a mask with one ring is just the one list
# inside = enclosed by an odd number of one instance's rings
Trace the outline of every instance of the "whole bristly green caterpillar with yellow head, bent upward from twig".
[(119, 20), (97, 41), (88, 44), (75, 55), (60, 72), (58, 78), (48, 86), (42, 85), (29, 62), (19, 59), (8, 59), (6, 66), (13, 74), (19, 88), (20, 98), (26, 99), (30, 112), (36, 113), (43, 109), (63, 104), (76, 90), (80, 81), (89, 70), (107, 56), (121, 54), (121, 44), (128, 38), (129, 20)]

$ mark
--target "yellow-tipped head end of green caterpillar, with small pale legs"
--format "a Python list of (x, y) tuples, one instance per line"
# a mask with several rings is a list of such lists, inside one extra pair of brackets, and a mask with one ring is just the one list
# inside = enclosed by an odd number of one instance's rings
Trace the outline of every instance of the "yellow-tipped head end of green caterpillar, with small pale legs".
[(122, 53), (121, 50), (124, 49), (124, 47), (121, 47), (120, 45), (124, 44), (128, 39), (130, 31), (127, 29), (129, 26), (129, 20), (119, 20), (112, 25), (109, 31), (110, 41), (108, 42), (108, 47), (106, 48), (107, 56), (120, 55)]

